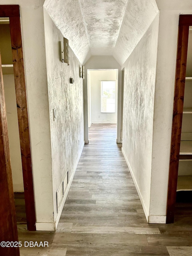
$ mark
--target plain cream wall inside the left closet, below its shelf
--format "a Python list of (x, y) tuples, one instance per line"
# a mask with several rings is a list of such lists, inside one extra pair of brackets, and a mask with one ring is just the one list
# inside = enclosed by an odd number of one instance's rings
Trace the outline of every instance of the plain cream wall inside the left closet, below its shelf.
[(24, 192), (14, 75), (3, 75), (13, 191)]

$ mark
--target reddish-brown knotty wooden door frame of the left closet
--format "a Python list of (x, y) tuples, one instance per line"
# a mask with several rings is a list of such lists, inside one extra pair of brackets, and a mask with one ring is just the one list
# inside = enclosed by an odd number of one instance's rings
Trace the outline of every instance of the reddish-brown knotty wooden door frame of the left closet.
[(0, 5), (0, 17), (8, 17), (10, 23), (27, 229), (35, 231), (35, 200), (19, 5)]

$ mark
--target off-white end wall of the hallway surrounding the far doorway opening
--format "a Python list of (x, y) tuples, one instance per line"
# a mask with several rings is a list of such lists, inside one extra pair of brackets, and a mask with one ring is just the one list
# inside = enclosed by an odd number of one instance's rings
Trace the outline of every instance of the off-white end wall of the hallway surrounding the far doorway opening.
[(121, 94), (122, 94), (122, 71), (119, 63), (113, 56), (91, 56), (85, 63), (84, 89), (84, 136), (88, 143), (88, 92), (87, 92), (87, 69), (118, 69), (118, 99), (117, 99), (117, 143), (121, 141)]

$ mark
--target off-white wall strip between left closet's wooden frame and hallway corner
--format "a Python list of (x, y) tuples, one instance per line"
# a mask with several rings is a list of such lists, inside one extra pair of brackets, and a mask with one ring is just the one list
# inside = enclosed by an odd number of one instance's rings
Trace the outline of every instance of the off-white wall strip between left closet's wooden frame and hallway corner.
[(51, 139), (44, 38), (44, 0), (1, 0), (21, 11), (37, 222), (53, 221)]

